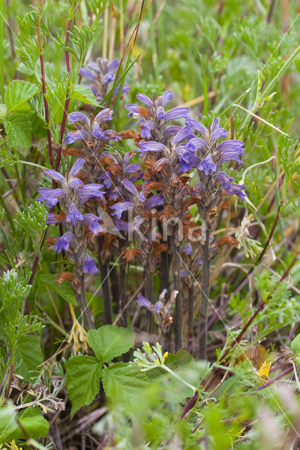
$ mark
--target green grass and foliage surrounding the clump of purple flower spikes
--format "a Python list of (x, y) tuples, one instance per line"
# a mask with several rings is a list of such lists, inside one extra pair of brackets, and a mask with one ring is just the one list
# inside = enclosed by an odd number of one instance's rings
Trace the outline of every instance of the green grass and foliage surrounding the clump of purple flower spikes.
[[(299, 15), (298, 2), (289, 0), (0, 0), (4, 449), (299, 448)], [(239, 238), (239, 248), (226, 247), (213, 262), (208, 362), (197, 360), (193, 349), (195, 359), (184, 350), (165, 359), (156, 348), (158, 358), (151, 360), (144, 345), (148, 359), (135, 357), (144, 368), (149, 361), (154, 366), (141, 372), (130, 365), (134, 338), (136, 347), (144, 340), (156, 345), (135, 297), (127, 338), (100, 319), (101, 344), (80, 328), (73, 290), (56, 283), (65, 260), (46, 246), (47, 208), (36, 202), (37, 187), (46, 186), (41, 167), (51, 163), (40, 54), (55, 157), (65, 98), (69, 113), (97, 105), (78, 85), (80, 67), (99, 56), (122, 60), (119, 77), (130, 86), (115, 101), (113, 129), (138, 131), (124, 107), (137, 93), (156, 97), (172, 90), (173, 105), (189, 106), (206, 126), (220, 117), (231, 138), (246, 143), (244, 164), (232, 165), (230, 174), (244, 181), (250, 202), (245, 208), (230, 200), (230, 213), (220, 214), (217, 233)], [(13, 80), (29, 82), (29, 91)], [(118, 148), (136, 147), (126, 141)], [(63, 172), (66, 167), (62, 158)], [(192, 214), (196, 220), (196, 210)], [(128, 298), (141, 280), (132, 264)], [(101, 318), (99, 278), (87, 284), (87, 300)], [(159, 293), (155, 274), (153, 298)], [(197, 321), (197, 285), (194, 295)], [(118, 313), (115, 307), (114, 321)], [(104, 356), (114, 338), (123, 345)], [(187, 350), (187, 333), (184, 339)], [(89, 362), (98, 378), (76, 359), (83, 354), (94, 358)], [(123, 366), (108, 389), (111, 361)]]

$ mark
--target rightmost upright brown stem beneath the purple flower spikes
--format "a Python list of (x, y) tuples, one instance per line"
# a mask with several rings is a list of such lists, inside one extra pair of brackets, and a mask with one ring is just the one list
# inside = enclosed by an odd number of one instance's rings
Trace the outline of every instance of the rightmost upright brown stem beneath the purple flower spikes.
[[(208, 299), (211, 280), (211, 262), (209, 260), (209, 241), (211, 238), (211, 231), (206, 229), (206, 240), (202, 247), (203, 250), (203, 265), (202, 265), (202, 290), (201, 290), (201, 308), (200, 308), (200, 328), (201, 338), (199, 339), (199, 358), (206, 359), (207, 357), (207, 313), (208, 313)], [(202, 330), (205, 330), (202, 333)]]

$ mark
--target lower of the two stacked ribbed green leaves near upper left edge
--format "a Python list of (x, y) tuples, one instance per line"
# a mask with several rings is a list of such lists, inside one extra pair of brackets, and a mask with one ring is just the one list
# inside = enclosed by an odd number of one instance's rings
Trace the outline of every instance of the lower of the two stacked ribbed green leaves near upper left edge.
[(31, 146), (31, 122), (28, 115), (14, 113), (6, 117), (4, 127), (9, 147), (28, 148)]

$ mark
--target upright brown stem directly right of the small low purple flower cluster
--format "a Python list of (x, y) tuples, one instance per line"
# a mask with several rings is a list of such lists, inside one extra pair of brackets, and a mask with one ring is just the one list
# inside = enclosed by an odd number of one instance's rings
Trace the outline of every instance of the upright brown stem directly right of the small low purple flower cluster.
[(175, 352), (182, 349), (182, 293), (180, 281), (180, 245), (175, 242), (176, 229), (170, 237), (173, 252), (173, 280), (174, 289), (178, 291), (175, 300)]

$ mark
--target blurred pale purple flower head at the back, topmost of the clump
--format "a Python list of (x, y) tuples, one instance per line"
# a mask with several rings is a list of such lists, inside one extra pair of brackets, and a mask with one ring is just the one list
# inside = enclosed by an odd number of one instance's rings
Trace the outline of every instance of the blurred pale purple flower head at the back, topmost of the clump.
[[(79, 73), (88, 80), (87, 86), (92, 89), (96, 101), (101, 102), (108, 93), (110, 84), (115, 82), (115, 71), (118, 70), (119, 65), (120, 60), (118, 59), (108, 63), (106, 58), (97, 58), (96, 63), (91, 61), (87, 68), (80, 68)], [(120, 84), (117, 84), (113, 90), (113, 96), (118, 94), (119, 89)], [(123, 84), (122, 94), (127, 94), (129, 89), (127, 84)]]

